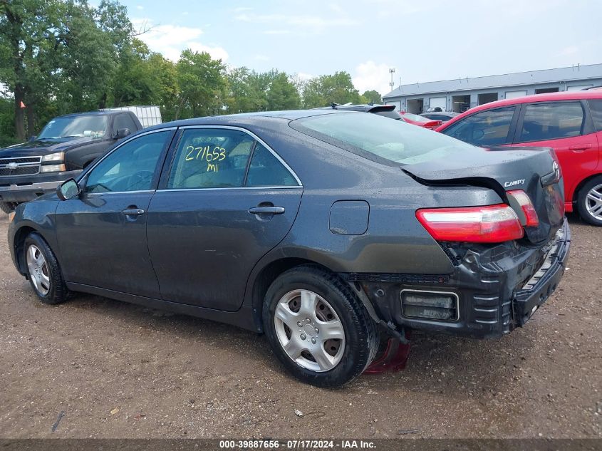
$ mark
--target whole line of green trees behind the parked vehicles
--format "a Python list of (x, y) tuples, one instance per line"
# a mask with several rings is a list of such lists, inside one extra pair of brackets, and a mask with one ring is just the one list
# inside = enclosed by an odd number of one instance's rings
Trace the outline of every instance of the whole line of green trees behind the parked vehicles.
[(0, 0), (0, 145), (36, 135), (56, 115), (123, 105), (160, 105), (167, 121), (380, 102), (345, 71), (303, 80), (190, 49), (170, 61), (142, 33), (117, 0)]

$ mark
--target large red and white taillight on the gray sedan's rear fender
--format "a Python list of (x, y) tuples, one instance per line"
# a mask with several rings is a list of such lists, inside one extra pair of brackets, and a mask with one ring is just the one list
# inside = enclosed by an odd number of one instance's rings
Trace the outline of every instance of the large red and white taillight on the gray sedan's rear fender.
[(524, 235), (519, 217), (507, 204), (419, 209), (416, 217), (437, 241), (502, 243)]

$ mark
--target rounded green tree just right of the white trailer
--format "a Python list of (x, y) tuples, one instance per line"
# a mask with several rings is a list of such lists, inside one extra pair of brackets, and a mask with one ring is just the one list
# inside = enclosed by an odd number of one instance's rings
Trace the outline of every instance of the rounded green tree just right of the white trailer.
[(196, 118), (222, 113), (227, 81), (222, 60), (209, 53), (182, 51), (176, 64), (180, 96), (175, 118)]

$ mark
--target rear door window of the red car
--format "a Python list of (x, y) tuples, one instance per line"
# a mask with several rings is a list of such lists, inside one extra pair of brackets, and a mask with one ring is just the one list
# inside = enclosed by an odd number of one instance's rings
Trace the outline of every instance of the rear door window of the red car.
[(571, 138), (583, 133), (581, 102), (531, 103), (525, 106), (517, 142)]

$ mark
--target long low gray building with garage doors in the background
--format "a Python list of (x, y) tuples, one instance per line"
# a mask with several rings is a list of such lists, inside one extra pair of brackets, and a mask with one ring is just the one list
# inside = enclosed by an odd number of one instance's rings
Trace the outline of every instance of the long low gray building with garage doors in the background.
[(457, 78), (400, 85), (383, 95), (387, 105), (400, 111), (425, 113), (428, 108), (462, 113), (483, 103), (523, 95), (556, 93), (602, 85), (602, 64), (506, 73), (504, 75)]

